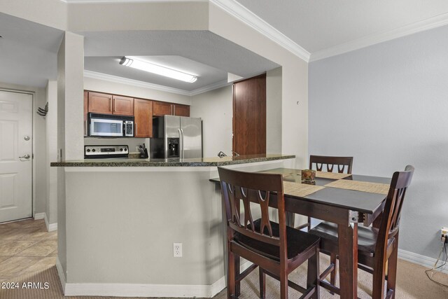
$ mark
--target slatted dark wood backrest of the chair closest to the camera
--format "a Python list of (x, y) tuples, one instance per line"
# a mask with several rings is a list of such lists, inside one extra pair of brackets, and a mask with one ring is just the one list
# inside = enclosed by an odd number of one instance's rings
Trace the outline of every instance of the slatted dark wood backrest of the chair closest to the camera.
[[(264, 174), (255, 172), (239, 172), (218, 167), (221, 191), (225, 204), (228, 223), (228, 238), (235, 232), (246, 237), (257, 239), (267, 244), (280, 246), (283, 242), (286, 256), (286, 216), (283, 197), (283, 176), (281, 174)], [(279, 212), (279, 236), (275, 236), (269, 218), (269, 202), (276, 197)], [(241, 213), (241, 202), (244, 211)], [(255, 203), (255, 204), (251, 204)], [(255, 230), (253, 211), (259, 207), (260, 229)], [(255, 211), (254, 211), (255, 212)], [(241, 222), (241, 214), (244, 220)]]

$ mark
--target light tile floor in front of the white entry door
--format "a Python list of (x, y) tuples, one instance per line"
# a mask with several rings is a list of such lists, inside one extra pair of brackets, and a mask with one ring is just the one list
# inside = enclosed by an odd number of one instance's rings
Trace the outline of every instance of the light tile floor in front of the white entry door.
[(43, 219), (0, 224), (0, 282), (46, 270), (56, 256), (57, 231), (47, 232)]

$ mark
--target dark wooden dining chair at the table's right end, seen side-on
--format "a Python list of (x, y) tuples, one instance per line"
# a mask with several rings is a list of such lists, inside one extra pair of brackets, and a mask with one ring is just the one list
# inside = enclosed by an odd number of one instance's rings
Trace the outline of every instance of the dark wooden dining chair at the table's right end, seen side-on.
[[(358, 267), (373, 274), (372, 298), (374, 299), (384, 297), (386, 272), (386, 298), (395, 298), (400, 214), (412, 174), (414, 174), (414, 167), (411, 165), (407, 165), (404, 172), (393, 174), (384, 210), (379, 216), (381, 218), (378, 218), (377, 221), (378, 228), (374, 226), (358, 227)], [(336, 224), (324, 221), (309, 232), (321, 237), (321, 252), (337, 256), (339, 249)], [(330, 262), (330, 267), (323, 272), (321, 279), (328, 275), (332, 263), (336, 263), (336, 258)], [(332, 272), (336, 272), (336, 269), (334, 268)], [(321, 286), (334, 293), (339, 293), (334, 280), (330, 280), (330, 284), (321, 280)]]

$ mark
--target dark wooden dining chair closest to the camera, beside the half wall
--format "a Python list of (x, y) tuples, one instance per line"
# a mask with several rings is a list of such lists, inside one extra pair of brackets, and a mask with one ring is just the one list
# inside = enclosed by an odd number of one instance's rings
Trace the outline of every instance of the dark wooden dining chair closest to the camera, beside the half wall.
[[(281, 299), (288, 298), (288, 286), (303, 293), (300, 298), (318, 298), (319, 237), (286, 226), (282, 175), (222, 167), (218, 173), (227, 223), (228, 298), (238, 298), (240, 281), (257, 266), (260, 298), (265, 298), (265, 274), (279, 279)], [(269, 204), (277, 207), (279, 223), (270, 221)], [(253, 263), (241, 274), (240, 257)], [(288, 274), (307, 260), (304, 288), (289, 281)]]

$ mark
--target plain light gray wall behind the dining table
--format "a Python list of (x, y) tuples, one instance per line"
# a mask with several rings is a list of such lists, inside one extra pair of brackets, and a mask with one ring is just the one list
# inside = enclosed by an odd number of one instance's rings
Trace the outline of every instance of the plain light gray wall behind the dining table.
[(353, 155), (353, 173), (416, 171), (400, 249), (437, 258), (448, 226), (448, 27), (309, 64), (309, 153)]

